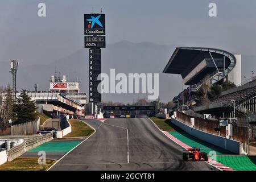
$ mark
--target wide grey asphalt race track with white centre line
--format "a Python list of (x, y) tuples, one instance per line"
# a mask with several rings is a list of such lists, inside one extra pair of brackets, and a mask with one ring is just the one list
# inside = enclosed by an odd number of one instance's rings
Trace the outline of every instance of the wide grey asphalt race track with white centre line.
[[(184, 162), (184, 148), (148, 118), (86, 119), (96, 132), (50, 170), (216, 170), (205, 162)], [(128, 136), (127, 136), (128, 134)]]

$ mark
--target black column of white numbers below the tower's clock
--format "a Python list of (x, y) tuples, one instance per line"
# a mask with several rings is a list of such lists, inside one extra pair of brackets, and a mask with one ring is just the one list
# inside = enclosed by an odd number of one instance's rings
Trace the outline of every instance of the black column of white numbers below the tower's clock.
[(101, 93), (98, 92), (98, 75), (101, 74), (101, 49), (89, 49), (89, 102), (101, 102)]

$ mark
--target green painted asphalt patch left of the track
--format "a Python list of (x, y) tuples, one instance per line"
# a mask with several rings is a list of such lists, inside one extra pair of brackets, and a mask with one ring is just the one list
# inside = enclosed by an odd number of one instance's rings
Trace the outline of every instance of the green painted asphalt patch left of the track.
[(36, 148), (33, 148), (30, 152), (69, 152), (79, 143), (81, 143), (81, 141), (46, 142)]

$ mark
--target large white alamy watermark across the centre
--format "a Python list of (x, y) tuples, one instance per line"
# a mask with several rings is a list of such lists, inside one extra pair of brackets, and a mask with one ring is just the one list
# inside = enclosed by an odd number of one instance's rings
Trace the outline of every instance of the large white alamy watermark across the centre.
[(101, 83), (98, 85), (99, 93), (148, 94), (148, 100), (156, 100), (159, 96), (158, 73), (118, 73), (110, 69), (110, 76), (106, 73), (98, 75)]

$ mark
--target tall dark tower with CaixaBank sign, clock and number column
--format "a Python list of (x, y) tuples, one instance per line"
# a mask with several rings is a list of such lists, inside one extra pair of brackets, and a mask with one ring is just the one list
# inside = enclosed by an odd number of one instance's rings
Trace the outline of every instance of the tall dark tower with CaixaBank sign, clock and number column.
[(106, 47), (105, 14), (85, 14), (84, 35), (85, 48), (89, 48), (89, 102), (97, 104), (101, 102), (97, 89), (101, 82), (97, 80), (101, 74), (101, 48)]

